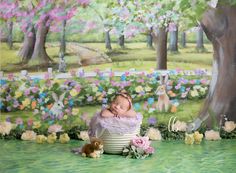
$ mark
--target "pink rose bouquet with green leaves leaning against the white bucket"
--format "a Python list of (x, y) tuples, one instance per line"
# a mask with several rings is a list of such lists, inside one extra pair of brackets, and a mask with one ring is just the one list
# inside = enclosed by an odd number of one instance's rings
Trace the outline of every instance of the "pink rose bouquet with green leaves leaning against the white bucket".
[(122, 154), (129, 158), (144, 159), (154, 153), (154, 148), (150, 146), (148, 137), (135, 137), (130, 145), (125, 146)]

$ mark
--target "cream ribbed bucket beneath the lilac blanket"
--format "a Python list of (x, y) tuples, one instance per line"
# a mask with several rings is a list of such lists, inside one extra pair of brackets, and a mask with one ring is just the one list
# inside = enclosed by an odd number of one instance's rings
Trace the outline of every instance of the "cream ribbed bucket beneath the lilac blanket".
[(123, 147), (129, 145), (130, 140), (139, 134), (140, 129), (137, 129), (133, 133), (127, 134), (114, 134), (109, 133), (107, 130), (104, 131), (100, 139), (103, 140), (104, 152), (108, 154), (121, 154)]

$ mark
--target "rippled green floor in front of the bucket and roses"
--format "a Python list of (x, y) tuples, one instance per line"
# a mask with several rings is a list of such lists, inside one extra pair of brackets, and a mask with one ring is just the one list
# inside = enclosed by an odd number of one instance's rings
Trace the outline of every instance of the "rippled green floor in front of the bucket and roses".
[(152, 142), (156, 152), (144, 160), (103, 154), (91, 159), (75, 155), (69, 144), (36, 144), (20, 140), (0, 140), (0, 173), (235, 173), (236, 140), (203, 141), (185, 145), (183, 141)]

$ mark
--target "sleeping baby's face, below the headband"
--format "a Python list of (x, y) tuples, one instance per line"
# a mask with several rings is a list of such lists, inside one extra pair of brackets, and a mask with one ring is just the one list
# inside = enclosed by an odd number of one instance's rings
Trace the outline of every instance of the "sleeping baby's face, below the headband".
[(111, 109), (118, 115), (124, 115), (124, 113), (127, 112), (130, 108), (129, 104), (129, 101), (126, 98), (117, 96), (111, 103)]

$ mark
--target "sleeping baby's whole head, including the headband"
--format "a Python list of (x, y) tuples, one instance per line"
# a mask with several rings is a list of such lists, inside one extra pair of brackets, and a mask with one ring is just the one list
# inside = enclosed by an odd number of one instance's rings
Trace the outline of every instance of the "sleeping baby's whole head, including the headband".
[(117, 114), (124, 114), (132, 107), (132, 98), (127, 92), (118, 93), (111, 103), (112, 111)]

